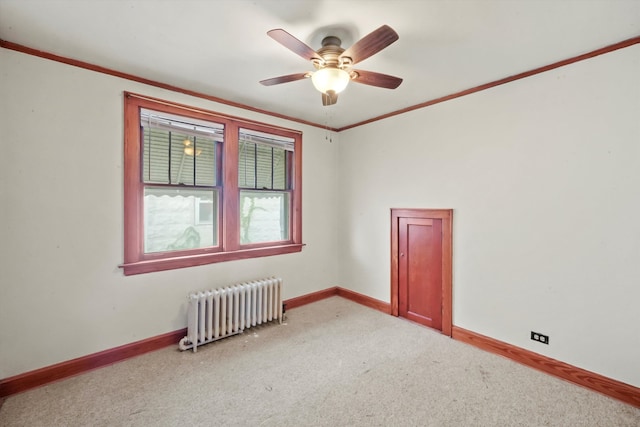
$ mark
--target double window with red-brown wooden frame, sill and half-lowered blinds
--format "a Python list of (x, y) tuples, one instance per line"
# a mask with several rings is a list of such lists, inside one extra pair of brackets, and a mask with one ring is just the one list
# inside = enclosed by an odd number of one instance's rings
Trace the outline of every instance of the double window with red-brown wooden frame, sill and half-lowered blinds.
[(125, 93), (124, 273), (299, 252), (301, 134)]

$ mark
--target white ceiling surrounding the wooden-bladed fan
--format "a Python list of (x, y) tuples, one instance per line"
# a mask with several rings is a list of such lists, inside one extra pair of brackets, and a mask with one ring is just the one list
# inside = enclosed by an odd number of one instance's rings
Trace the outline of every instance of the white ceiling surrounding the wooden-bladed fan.
[[(357, 68), (398, 89), (352, 83), (323, 107), (309, 80), (258, 83), (313, 70), (270, 29), (318, 49), (326, 28), (348, 47), (383, 24), (400, 39)], [(332, 128), (639, 34), (640, 0), (0, 0), (2, 40)]]

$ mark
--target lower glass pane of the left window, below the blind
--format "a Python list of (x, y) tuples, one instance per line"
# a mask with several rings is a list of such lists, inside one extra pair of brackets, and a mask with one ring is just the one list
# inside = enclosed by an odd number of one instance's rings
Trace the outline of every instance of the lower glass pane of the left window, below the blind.
[(218, 246), (217, 189), (144, 189), (144, 252)]

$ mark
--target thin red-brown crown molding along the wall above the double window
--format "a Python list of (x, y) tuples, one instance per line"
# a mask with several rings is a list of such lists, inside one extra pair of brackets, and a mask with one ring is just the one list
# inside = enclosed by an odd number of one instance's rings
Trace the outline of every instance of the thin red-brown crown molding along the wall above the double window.
[(133, 82), (143, 83), (149, 86), (159, 87), (161, 89), (170, 90), (173, 92), (184, 93), (185, 95), (194, 96), (196, 98), (206, 99), (208, 101), (217, 102), (218, 104), (229, 105), (231, 107), (242, 108), (243, 110), (253, 111), (260, 114), (266, 114), (268, 116), (277, 117), (279, 119), (289, 120), (296, 123), (302, 123), (304, 125), (313, 126), (317, 128), (327, 129), (331, 131), (335, 131), (334, 128), (328, 128), (326, 125), (313, 123), (308, 120), (298, 119), (291, 116), (286, 116), (284, 114), (274, 113), (273, 111), (263, 110), (261, 108), (251, 107), (250, 105), (241, 104), (239, 102), (229, 101), (227, 99), (218, 98), (217, 96), (207, 95), (205, 93), (196, 92), (189, 89), (184, 89), (178, 86), (170, 85), (167, 83), (158, 82), (155, 80), (146, 79), (144, 77), (139, 77), (129, 73), (123, 73), (121, 71), (117, 71), (111, 68), (102, 67), (100, 65), (91, 64), (84, 61), (79, 61), (77, 59), (67, 58), (64, 56), (56, 55), (53, 53), (45, 52), (38, 49), (33, 49), (24, 45), (20, 45), (17, 43), (13, 43), (10, 41), (0, 39), (0, 47), (9, 50), (15, 50), (16, 52), (25, 53), (27, 55), (37, 56), (39, 58), (48, 59), (51, 61), (61, 62), (63, 64), (71, 65), (73, 67), (83, 68), (89, 71), (95, 71), (97, 73), (107, 74), (114, 77), (119, 77), (121, 79), (130, 80)]

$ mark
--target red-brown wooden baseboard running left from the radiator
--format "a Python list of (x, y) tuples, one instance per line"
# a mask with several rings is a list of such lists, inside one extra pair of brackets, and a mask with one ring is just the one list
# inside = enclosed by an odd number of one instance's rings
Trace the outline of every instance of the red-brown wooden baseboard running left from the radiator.
[(149, 353), (150, 351), (159, 350), (170, 345), (177, 345), (178, 341), (186, 336), (186, 334), (186, 329), (180, 329), (5, 378), (0, 380), (0, 398), (91, 371), (96, 368), (101, 368), (131, 357), (140, 356), (142, 354)]

